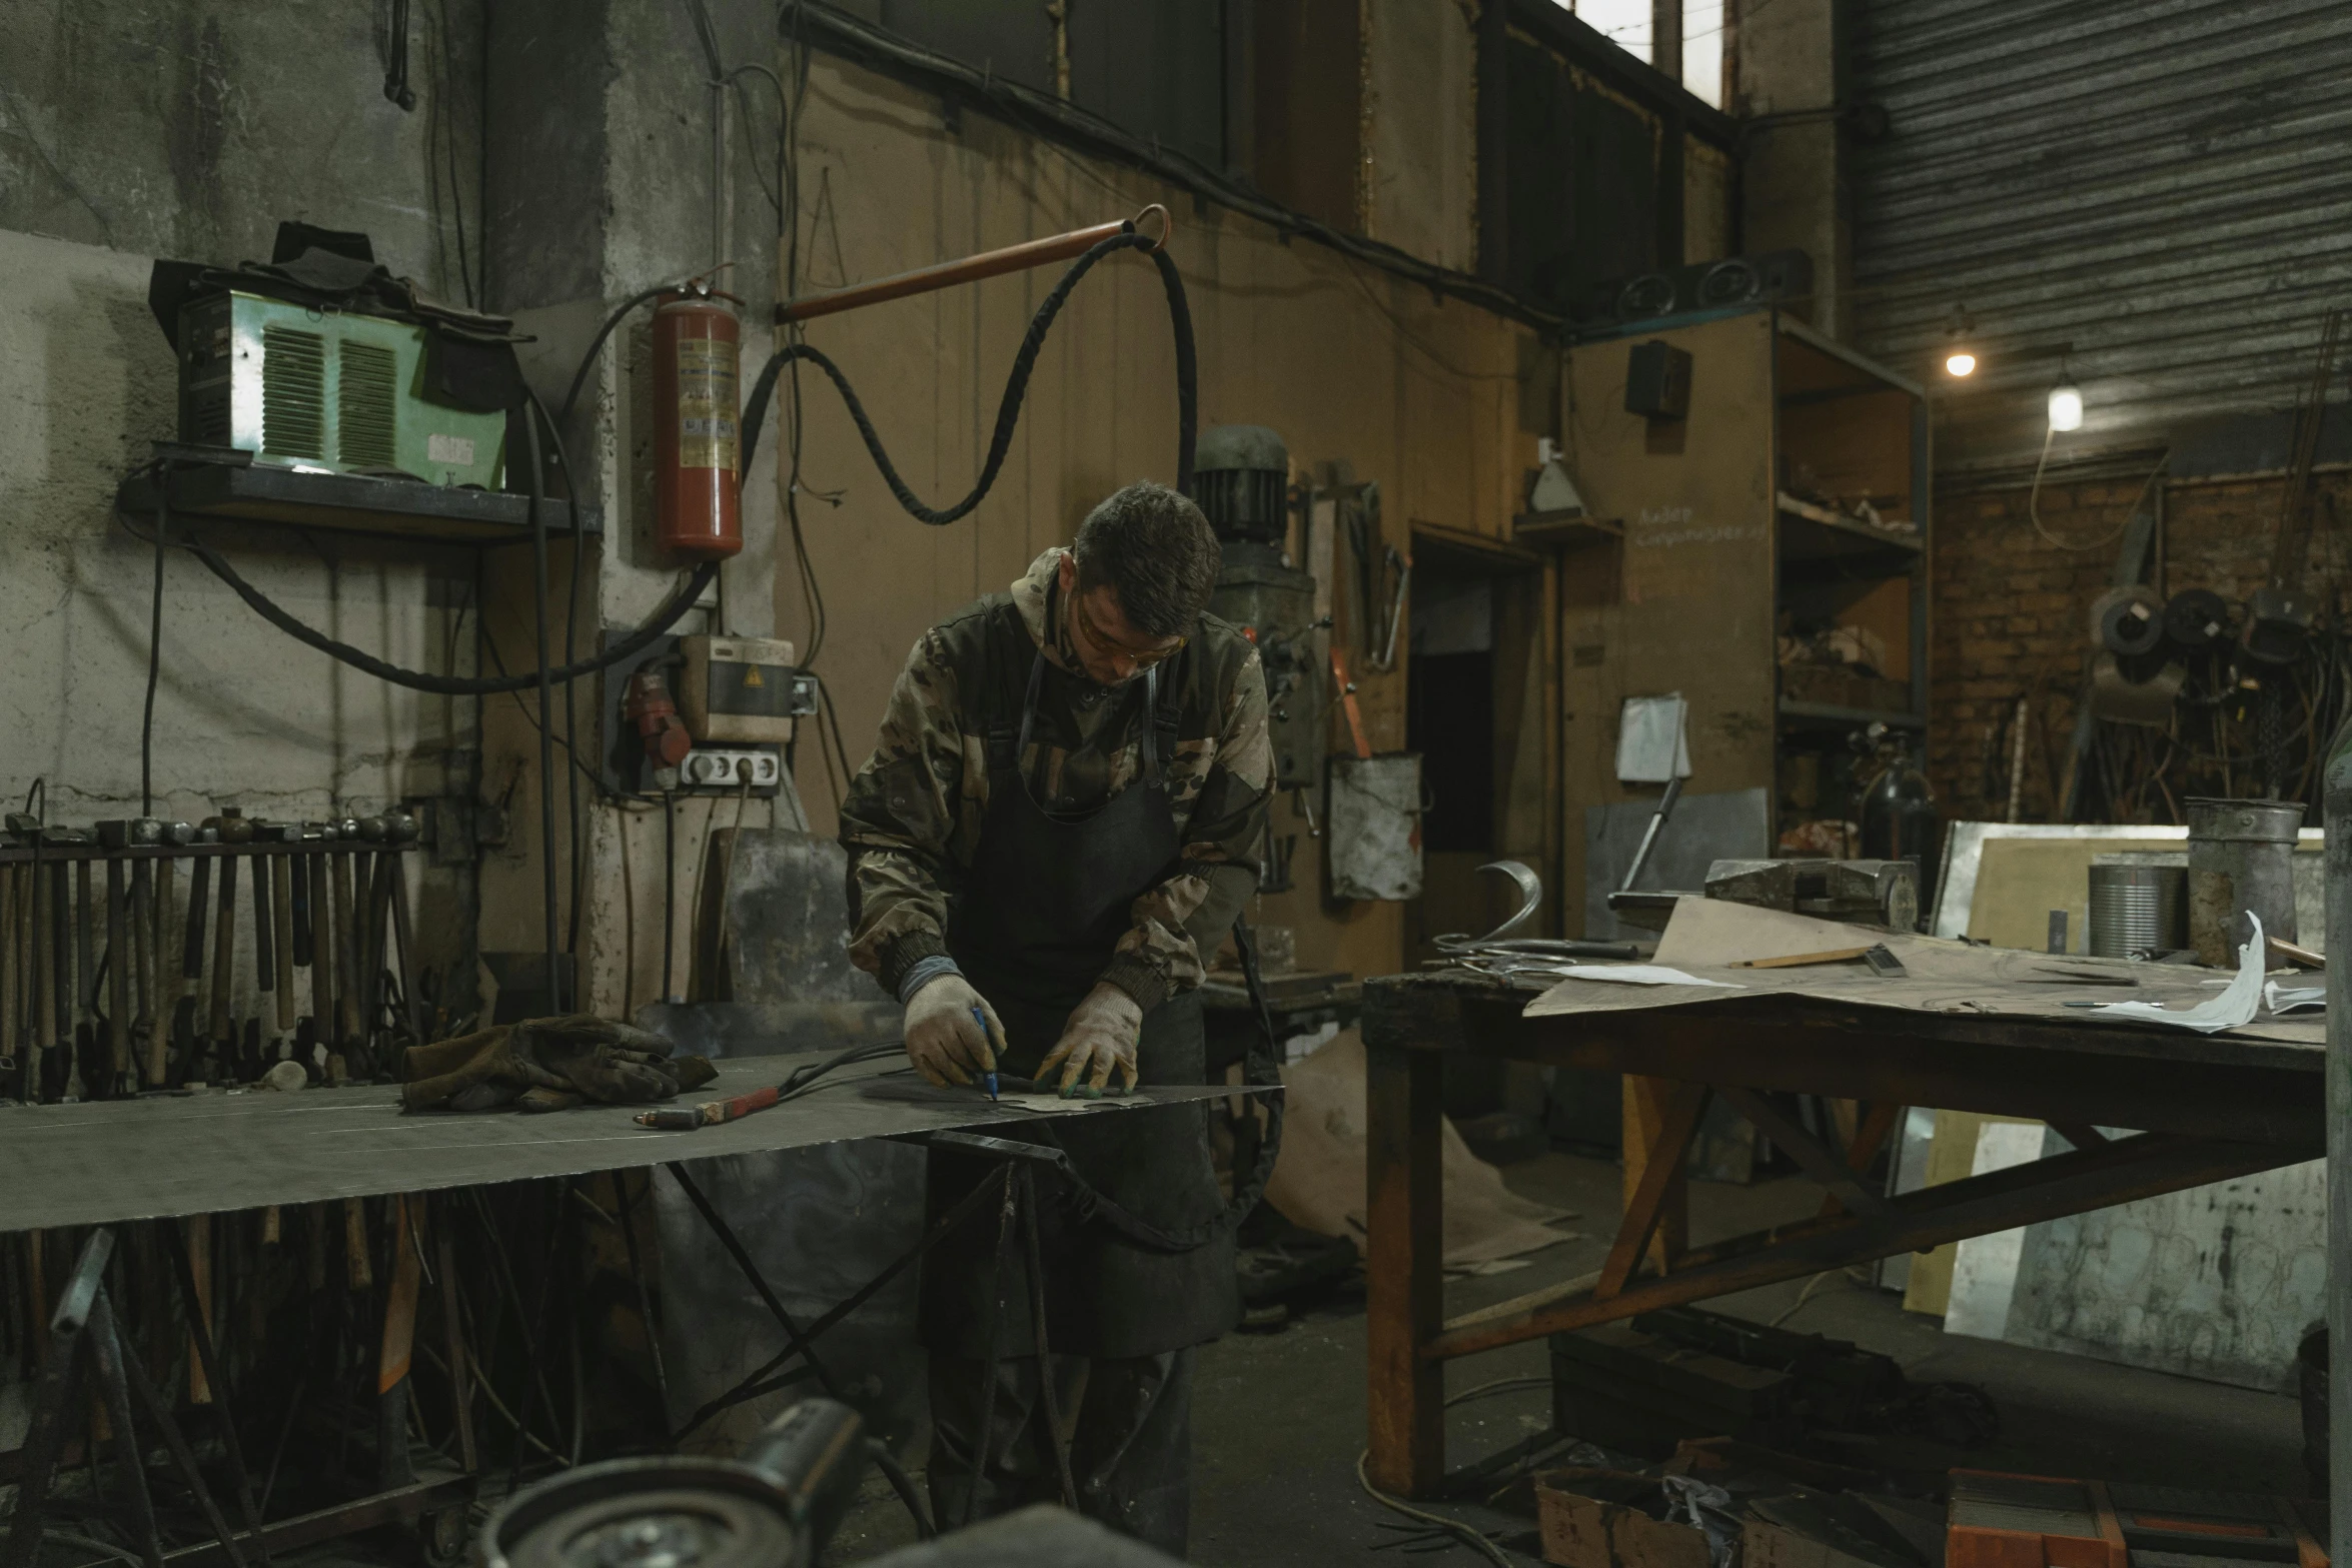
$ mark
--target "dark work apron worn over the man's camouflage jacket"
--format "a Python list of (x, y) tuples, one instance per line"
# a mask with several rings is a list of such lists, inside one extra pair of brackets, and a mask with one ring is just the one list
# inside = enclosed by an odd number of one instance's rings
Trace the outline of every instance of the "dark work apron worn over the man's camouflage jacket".
[[(1040, 651), (1021, 672), (1021, 654), (1030, 649), (1021, 611), (1004, 604), (997, 616), (988, 639), (993, 668), (983, 679), (990, 708), (988, 816), (981, 820), (969, 877), (948, 914), (948, 952), (1004, 1023), (1004, 1072), (1035, 1077), (1070, 1011), (1103, 978), (1120, 938), (1134, 924), (1129, 905), (1176, 867), (1181, 839), (1160, 766), (1162, 755), (1174, 748), (1176, 712), (1174, 701), (1160, 703), (1157, 670), (1131, 682), (1141, 691), (1134, 719), (1143, 726), (1138, 776), (1087, 816), (1040, 809), (1018, 764), (1049, 670)], [(1176, 682), (1169, 689), (1178, 689)], [(1127, 693), (1110, 701), (1134, 703)], [(1143, 1016), (1136, 1065), (1145, 1088), (1207, 1081), (1200, 992), (1178, 992)], [(1207, 1103), (1089, 1112), (990, 1133), (1061, 1145), (1087, 1182), (1164, 1229), (1200, 1225), (1225, 1206), (1209, 1159)], [(997, 1161), (990, 1159), (931, 1152), (931, 1215), (988, 1180), (995, 1168)], [(1214, 1340), (1240, 1321), (1230, 1232), (1188, 1253), (1150, 1251), (1105, 1225), (1080, 1222), (1058, 1201), (1058, 1175), (1037, 1173), (1054, 1354), (1150, 1356)], [(997, 1206), (990, 1204), (924, 1258), (922, 1326), (934, 1352), (988, 1354), (995, 1253)], [(1004, 1302), (997, 1314), (997, 1354), (1035, 1354), (1018, 1232), (997, 1298)]]

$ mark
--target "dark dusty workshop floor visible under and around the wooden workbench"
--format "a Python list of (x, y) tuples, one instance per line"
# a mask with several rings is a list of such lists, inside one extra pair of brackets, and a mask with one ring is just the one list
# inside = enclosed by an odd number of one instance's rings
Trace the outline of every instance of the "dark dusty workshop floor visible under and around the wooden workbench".
[[(1446, 1312), (1534, 1291), (1599, 1267), (1618, 1213), (1618, 1168), (1548, 1154), (1508, 1171), (1519, 1192), (1583, 1215), (1585, 1237), (1538, 1253), (1526, 1269), (1446, 1286)], [(1811, 1213), (1820, 1190), (1799, 1178), (1726, 1187), (1693, 1182), (1696, 1241), (1738, 1234)], [(1708, 1302), (1769, 1321), (1799, 1284)], [(2114, 1476), (2169, 1486), (2281, 1490), (2300, 1474), (2300, 1420), (2284, 1396), (2192, 1382), (1987, 1340), (1947, 1338), (1938, 1319), (1905, 1314), (1900, 1300), (1825, 1279), (1790, 1328), (1853, 1340), (1903, 1361), (1919, 1380), (1964, 1380), (1992, 1394), (2004, 1436), (1971, 1465), (2030, 1474)], [(1515, 1345), (1456, 1361), (1449, 1389), (1545, 1373), (1543, 1345)], [(1449, 1462), (1503, 1448), (1548, 1420), (1543, 1387), (1510, 1389), (1461, 1406), (1449, 1422)], [(1355, 1479), (1364, 1446), (1364, 1312), (1341, 1298), (1279, 1333), (1244, 1333), (1211, 1345), (1195, 1389), (1192, 1561), (1225, 1568), (1367, 1559), (1395, 1516)], [(1501, 1526), (1503, 1516), (1482, 1523)], [(873, 1495), (835, 1537), (828, 1563), (854, 1563), (913, 1540), (898, 1505)], [(1477, 1559), (1458, 1547), (1430, 1559)], [(1534, 1561), (1534, 1559), (1526, 1559)]]

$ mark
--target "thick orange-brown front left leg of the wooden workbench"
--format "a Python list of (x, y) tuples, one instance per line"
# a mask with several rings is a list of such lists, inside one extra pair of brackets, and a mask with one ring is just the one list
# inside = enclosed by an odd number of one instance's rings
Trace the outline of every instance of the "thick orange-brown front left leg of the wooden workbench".
[(1446, 1469), (1444, 1363), (1421, 1356), (1444, 1319), (1439, 1067), (1435, 1051), (1364, 1051), (1369, 1474), (1404, 1497), (1435, 1495)]

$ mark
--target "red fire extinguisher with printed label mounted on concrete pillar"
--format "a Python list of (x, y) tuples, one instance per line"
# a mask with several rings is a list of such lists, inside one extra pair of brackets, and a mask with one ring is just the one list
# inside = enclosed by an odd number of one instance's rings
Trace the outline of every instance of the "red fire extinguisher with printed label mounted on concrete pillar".
[(703, 559), (743, 548), (743, 329), (731, 303), (680, 292), (654, 308), (654, 529), (663, 550)]

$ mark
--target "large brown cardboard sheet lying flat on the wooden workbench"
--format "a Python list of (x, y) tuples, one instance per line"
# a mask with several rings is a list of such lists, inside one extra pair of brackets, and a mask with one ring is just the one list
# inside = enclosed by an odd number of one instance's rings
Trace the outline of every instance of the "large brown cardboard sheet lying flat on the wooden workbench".
[[(1863, 938), (1884, 940), (1907, 971), (1882, 978), (1860, 959), (1795, 969), (1729, 969), (1750, 959), (1776, 959), (1799, 952), (1853, 947)], [(1675, 905), (1653, 957), (1658, 966), (1682, 969), (1698, 980), (1748, 987), (1726, 992), (1715, 985), (1606, 985), (1595, 980), (1559, 980), (1526, 1006), (1529, 1018), (1566, 1013), (1604, 1013), (1658, 1006), (1752, 1006), (1762, 997), (1806, 997), (1839, 1006), (1884, 1006), (1910, 1013), (1983, 1013), (2039, 1018), (2093, 1030), (2161, 1032), (2178, 1039), (2178, 1051), (2197, 1053), (2199, 1041), (2185, 1032), (2145, 1020), (2098, 1013), (2082, 1004), (2154, 1001), (2192, 1009), (2213, 997), (2209, 980), (2218, 971), (2194, 964), (2133, 964), (2126, 959), (2091, 959), (2016, 947), (1978, 947), (1905, 931), (1875, 931), (1809, 914), (1783, 914), (1752, 905), (1686, 896)], [(2074, 1006), (2070, 1006), (2074, 1004)], [(2279, 1018), (2258, 1013), (2253, 1023), (2225, 1030), (2211, 1041), (2265, 1041), (2319, 1051), (2326, 1046), (2324, 1016), (2298, 1013)]]

